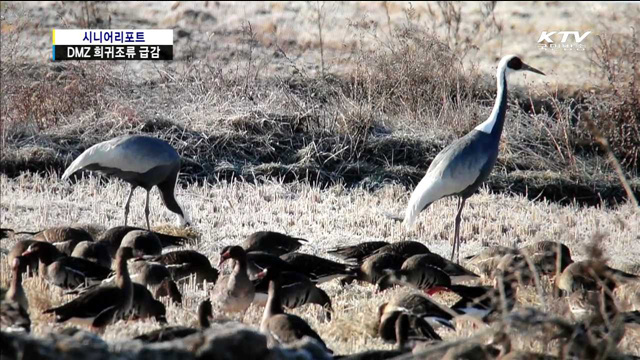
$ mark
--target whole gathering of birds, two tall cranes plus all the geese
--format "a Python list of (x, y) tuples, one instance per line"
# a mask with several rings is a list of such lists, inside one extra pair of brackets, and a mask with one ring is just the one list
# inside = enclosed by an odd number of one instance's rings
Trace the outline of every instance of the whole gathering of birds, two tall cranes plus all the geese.
[[(2, 294), (2, 331), (30, 331), (31, 310), (22, 279), (37, 276), (75, 295), (69, 302), (44, 310), (52, 321), (73, 322), (97, 333), (120, 320), (153, 319), (163, 324), (135, 338), (146, 343), (186, 338), (212, 323), (229, 321), (216, 319), (215, 314), (242, 316), (253, 305), (264, 307), (260, 324), (254, 325), (259, 325), (269, 346), (310, 338), (324, 358), (386, 359), (413, 354), (420, 359), (552, 359), (556, 357), (512, 349), (512, 334), (506, 330), (517, 327), (518, 321), (530, 326), (553, 323), (540, 320), (539, 313), (509, 317), (519, 289), (540, 287), (548, 281), (571, 312), (567, 319), (554, 323), (558, 358), (606, 358), (603, 354), (621, 341), (624, 328), (640, 324), (640, 311), (622, 311), (614, 295), (620, 285), (638, 282), (638, 275), (613, 269), (598, 257), (573, 261), (570, 249), (555, 241), (519, 249), (491, 247), (460, 261), (461, 211), (495, 164), (506, 111), (506, 78), (518, 70), (542, 74), (518, 57), (504, 57), (498, 66), (498, 97), (489, 119), (433, 160), (409, 201), (404, 217), (407, 226), (434, 201), (459, 197), (450, 259), (431, 252), (424, 242), (369, 241), (330, 249), (327, 255), (332, 260), (299, 252), (307, 242), (304, 238), (257, 231), (243, 243), (222, 248), (213, 266), (212, 259), (187, 249), (193, 240), (151, 230), (149, 191), (154, 186), (180, 225), (192, 223), (175, 197), (180, 156), (162, 140), (129, 135), (87, 149), (63, 175), (67, 179), (84, 169), (130, 183), (124, 226), (108, 229), (96, 239), (76, 227), (36, 232), (2, 229), (3, 237), (18, 239), (7, 254), (12, 275), (9, 289)], [(146, 229), (127, 225), (129, 203), (137, 187), (147, 190)], [(227, 262), (231, 271), (223, 274)], [(493, 286), (478, 285), (487, 278)], [(180, 285), (187, 281), (209, 294), (197, 309), (199, 328), (167, 324), (165, 302), (182, 304)], [(311, 304), (321, 307), (325, 320), (332, 321), (336, 314), (331, 297), (319, 286), (328, 281), (339, 281), (343, 287), (358, 282), (374, 287), (376, 293), (407, 289), (379, 304), (378, 313), (371, 314), (378, 319), (378, 336), (396, 344), (394, 350), (334, 354), (304, 318), (288, 313)], [(433, 297), (439, 293), (455, 294), (458, 300), (446, 305)], [(635, 301), (640, 303), (637, 295)], [(441, 334), (455, 330), (459, 318), (472, 319), (479, 326), (501, 323), (502, 331), (493, 334), (490, 344), (438, 350)]]

